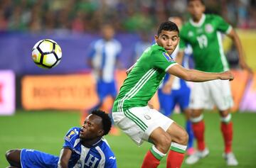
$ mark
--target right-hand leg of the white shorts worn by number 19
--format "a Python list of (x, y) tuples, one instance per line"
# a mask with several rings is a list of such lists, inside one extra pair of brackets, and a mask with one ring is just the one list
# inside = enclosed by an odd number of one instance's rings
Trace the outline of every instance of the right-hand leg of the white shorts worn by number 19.
[(215, 105), (220, 111), (225, 111), (233, 106), (230, 82), (228, 80), (210, 82), (210, 92)]

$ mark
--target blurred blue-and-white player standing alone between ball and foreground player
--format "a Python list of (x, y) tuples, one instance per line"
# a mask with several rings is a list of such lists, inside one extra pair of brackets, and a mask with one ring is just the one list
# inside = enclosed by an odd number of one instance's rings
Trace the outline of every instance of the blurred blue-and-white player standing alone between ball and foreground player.
[[(113, 101), (117, 96), (114, 70), (118, 67), (118, 58), (121, 54), (122, 45), (114, 39), (114, 33), (113, 26), (107, 23), (101, 28), (102, 38), (90, 45), (87, 63), (95, 75), (97, 96), (99, 98), (99, 102), (90, 111), (101, 108), (107, 96), (111, 96)], [(118, 134), (118, 130), (113, 127), (110, 133)]]

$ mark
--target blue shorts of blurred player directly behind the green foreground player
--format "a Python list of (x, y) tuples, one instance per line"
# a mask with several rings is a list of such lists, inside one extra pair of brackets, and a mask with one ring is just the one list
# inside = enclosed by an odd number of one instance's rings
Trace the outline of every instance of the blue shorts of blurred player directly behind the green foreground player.
[(183, 86), (182, 89), (171, 90), (171, 94), (164, 94), (161, 89), (158, 91), (160, 111), (165, 116), (171, 116), (176, 104), (181, 108), (181, 111), (188, 108), (189, 96), (191, 89), (188, 86)]

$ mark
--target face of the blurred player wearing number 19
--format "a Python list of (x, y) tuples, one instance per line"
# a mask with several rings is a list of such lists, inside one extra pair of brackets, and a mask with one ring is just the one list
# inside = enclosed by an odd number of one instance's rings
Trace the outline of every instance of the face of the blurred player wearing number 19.
[(194, 21), (199, 21), (205, 10), (206, 6), (199, 0), (188, 2), (188, 12), (191, 13)]

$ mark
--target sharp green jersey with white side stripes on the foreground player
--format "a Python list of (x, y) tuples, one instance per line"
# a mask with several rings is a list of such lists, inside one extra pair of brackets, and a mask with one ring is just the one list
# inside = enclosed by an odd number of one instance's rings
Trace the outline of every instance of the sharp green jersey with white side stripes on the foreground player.
[(164, 47), (154, 44), (147, 48), (124, 80), (114, 100), (112, 111), (147, 106), (164, 79), (166, 71), (173, 65), (176, 65), (176, 62)]

